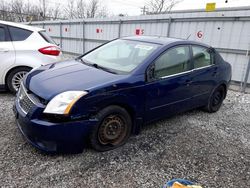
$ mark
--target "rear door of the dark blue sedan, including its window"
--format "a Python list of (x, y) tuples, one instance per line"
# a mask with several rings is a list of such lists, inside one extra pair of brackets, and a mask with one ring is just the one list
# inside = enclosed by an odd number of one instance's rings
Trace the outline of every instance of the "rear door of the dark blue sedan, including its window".
[(214, 60), (214, 52), (211, 48), (192, 45), (193, 60), (193, 101), (197, 106), (206, 104), (210, 92), (216, 86), (218, 77), (218, 65)]

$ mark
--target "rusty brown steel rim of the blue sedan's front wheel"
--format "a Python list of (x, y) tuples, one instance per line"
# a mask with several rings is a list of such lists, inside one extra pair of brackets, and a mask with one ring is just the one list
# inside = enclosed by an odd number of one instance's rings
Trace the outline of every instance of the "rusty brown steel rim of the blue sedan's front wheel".
[(119, 115), (107, 116), (98, 131), (98, 139), (101, 144), (120, 144), (126, 137), (127, 126), (123, 118)]

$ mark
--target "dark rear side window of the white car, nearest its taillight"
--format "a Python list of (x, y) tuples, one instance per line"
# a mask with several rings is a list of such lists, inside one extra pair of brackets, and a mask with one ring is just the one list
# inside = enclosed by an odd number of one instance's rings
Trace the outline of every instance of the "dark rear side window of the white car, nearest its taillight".
[(9, 31), (12, 41), (24, 41), (32, 34), (32, 31), (12, 26), (9, 26)]

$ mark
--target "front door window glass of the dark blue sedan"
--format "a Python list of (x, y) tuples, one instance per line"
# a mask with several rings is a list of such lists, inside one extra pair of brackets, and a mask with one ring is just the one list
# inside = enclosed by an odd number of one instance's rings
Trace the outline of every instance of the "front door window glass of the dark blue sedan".
[(155, 78), (161, 78), (190, 70), (188, 46), (179, 46), (167, 50), (155, 61)]

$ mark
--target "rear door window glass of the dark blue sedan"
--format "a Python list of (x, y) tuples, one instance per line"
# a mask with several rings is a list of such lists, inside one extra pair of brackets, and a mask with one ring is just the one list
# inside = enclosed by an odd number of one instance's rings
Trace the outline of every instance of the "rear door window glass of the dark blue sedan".
[(193, 46), (194, 68), (206, 67), (213, 64), (209, 48)]

